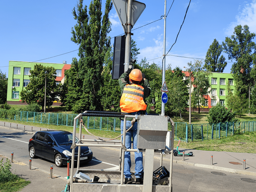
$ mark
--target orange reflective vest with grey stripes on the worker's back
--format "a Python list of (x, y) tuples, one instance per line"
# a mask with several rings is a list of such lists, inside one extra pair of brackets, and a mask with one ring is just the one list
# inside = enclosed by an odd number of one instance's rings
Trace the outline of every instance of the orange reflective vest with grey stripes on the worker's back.
[(144, 111), (147, 108), (143, 100), (144, 88), (137, 84), (127, 84), (120, 99), (120, 108), (123, 113)]

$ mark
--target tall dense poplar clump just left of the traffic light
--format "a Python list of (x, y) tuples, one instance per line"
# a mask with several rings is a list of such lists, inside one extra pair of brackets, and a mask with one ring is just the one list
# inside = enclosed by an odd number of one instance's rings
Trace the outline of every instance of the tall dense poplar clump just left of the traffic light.
[(73, 16), (77, 21), (72, 28), (71, 41), (79, 45), (79, 60), (73, 58), (67, 74), (68, 92), (63, 98), (66, 108), (74, 112), (85, 109), (102, 110), (100, 87), (103, 84), (102, 71), (105, 54), (110, 47), (111, 23), (108, 18), (112, 9), (111, 0), (106, 0), (105, 13), (102, 16), (101, 1), (92, 0), (87, 12), (83, 0), (74, 7)]

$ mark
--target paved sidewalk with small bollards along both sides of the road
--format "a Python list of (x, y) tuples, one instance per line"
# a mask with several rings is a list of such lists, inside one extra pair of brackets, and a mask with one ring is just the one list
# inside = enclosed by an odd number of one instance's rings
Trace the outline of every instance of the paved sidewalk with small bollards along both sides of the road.
[[(17, 124), (9, 122), (0, 121), (0, 127), (5, 129), (12, 129), (19, 132), (27, 132), (30, 134), (35, 134), (36, 131), (40, 129), (46, 130), (46, 128)], [(82, 135), (84, 139), (96, 139), (91, 135)], [(176, 146), (174, 146), (176, 148)], [(115, 150), (115, 149), (114, 149)], [(116, 149), (119, 150), (119, 149)], [(185, 153), (193, 152), (193, 156), (185, 156), (184, 161), (182, 156), (173, 156), (173, 163), (177, 164), (186, 164), (190, 166), (203, 167), (212, 169), (212, 171), (226, 171), (232, 173), (246, 174), (256, 176), (256, 154), (255, 153), (234, 153), (234, 152), (225, 152), (225, 151), (202, 151), (202, 150), (190, 150), (179, 148), (182, 153), (183, 150)], [(213, 164), (211, 164), (211, 155), (213, 155)], [(154, 158), (160, 159), (160, 154), (155, 153)], [(245, 170), (244, 170), (244, 159), (245, 159)], [(170, 155), (163, 155), (164, 161), (170, 161)], [(231, 164), (229, 162), (234, 162)], [(240, 165), (238, 165), (240, 163)], [(16, 170), (16, 174), (22, 175), (23, 178), (31, 181), (27, 187), (25, 187), (22, 192), (25, 191), (45, 191), (39, 186), (47, 186), (52, 188), (52, 192), (60, 192), (65, 189), (66, 179), (58, 175), (53, 175), (54, 179), (49, 179), (49, 172), (40, 170), (36, 167), (32, 167), (32, 170), (28, 170), (28, 164), (24, 163), (13, 163), (12, 169)], [(36, 170), (36, 171), (34, 171)], [(48, 174), (48, 175), (47, 175)], [(44, 178), (44, 179), (43, 179)], [(46, 178), (46, 179), (45, 179)], [(58, 180), (58, 182), (56, 182)], [(40, 183), (40, 185), (39, 185)], [(41, 185), (43, 183), (43, 185)], [(39, 190), (35, 190), (40, 188)], [(48, 190), (49, 191), (49, 190)]]

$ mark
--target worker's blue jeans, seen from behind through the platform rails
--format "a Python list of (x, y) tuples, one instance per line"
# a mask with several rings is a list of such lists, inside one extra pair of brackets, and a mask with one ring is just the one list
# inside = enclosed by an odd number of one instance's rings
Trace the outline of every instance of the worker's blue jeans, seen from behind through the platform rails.
[[(126, 121), (126, 130), (129, 129), (132, 126), (131, 121)], [(121, 134), (124, 132), (124, 120), (121, 121)], [(127, 149), (130, 149), (132, 146), (132, 140), (133, 140), (133, 149), (137, 149), (137, 122), (134, 122), (133, 127), (126, 132), (125, 135), (125, 147)], [(123, 140), (123, 136), (122, 136)], [(137, 153), (134, 152), (135, 155), (135, 177), (136, 178), (142, 178), (143, 174), (143, 155), (142, 152)], [(124, 152), (124, 176), (125, 178), (132, 178), (131, 173), (131, 152), (125, 151)]]

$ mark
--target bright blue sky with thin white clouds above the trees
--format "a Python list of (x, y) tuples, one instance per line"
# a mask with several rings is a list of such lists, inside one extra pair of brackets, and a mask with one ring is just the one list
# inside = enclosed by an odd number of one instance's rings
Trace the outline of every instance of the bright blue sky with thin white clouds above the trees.
[[(165, 1), (139, 2), (146, 4), (146, 8), (132, 28), (132, 39), (140, 49), (138, 61), (146, 58), (149, 64), (154, 62), (162, 67), (164, 19), (161, 16)], [(90, 3), (91, 0), (84, 0), (84, 5), (89, 7)], [(71, 64), (72, 58), (78, 58), (79, 46), (70, 40), (71, 29), (76, 24), (72, 15), (76, 4), (77, 0), (1, 1), (0, 70), (8, 76), (9, 60)], [(166, 12), (169, 12), (166, 53), (175, 42), (188, 4), (189, 0), (166, 1)], [(105, 7), (105, 0), (102, 6)], [(113, 44), (114, 37), (123, 35), (124, 30), (114, 6), (109, 18), (112, 26), (108, 35)], [(213, 40), (222, 44), (226, 37), (233, 35), (237, 25), (248, 25), (250, 32), (256, 33), (256, 0), (191, 0), (177, 42), (166, 56), (166, 67), (184, 69), (188, 62), (194, 63), (194, 58), (205, 59)], [(228, 62), (224, 73), (230, 73), (232, 61), (226, 53), (222, 54)]]

